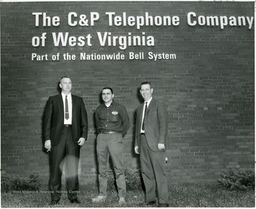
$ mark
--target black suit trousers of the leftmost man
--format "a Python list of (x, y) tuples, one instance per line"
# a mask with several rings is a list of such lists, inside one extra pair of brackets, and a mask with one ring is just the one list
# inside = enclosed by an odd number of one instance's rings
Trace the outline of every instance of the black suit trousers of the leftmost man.
[[(68, 198), (77, 198), (78, 183), (78, 162), (80, 157), (80, 146), (72, 139), (72, 129), (63, 128), (60, 143), (51, 148), (51, 176), (50, 176), (50, 197), (52, 200), (60, 200), (61, 193), (68, 192)], [(66, 163), (67, 170), (67, 192), (61, 190), (61, 176), (63, 164)]]

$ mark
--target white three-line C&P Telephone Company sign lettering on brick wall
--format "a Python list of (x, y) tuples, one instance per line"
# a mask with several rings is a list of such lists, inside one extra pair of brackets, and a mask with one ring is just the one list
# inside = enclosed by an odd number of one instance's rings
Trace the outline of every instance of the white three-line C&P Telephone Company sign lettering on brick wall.
[[(58, 27), (64, 24), (59, 16), (50, 16), (46, 12), (33, 12), (35, 26), (40, 28)], [(94, 33), (87, 33), (83, 36), (73, 36), (69, 32), (52, 32), (41, 33), (41, 36), (33, 36), (31, 44), (34, 48), (45, 47), (49, 42), (46, 42), (48, 38), (51, 38), (51, 43), (54, 47), (87, 47), (90, 48), (93, 45), (101, 47), (118, 47), (120, 50), (127, 50), (130, 46), (134, 47), (154, 47), (156, 41), (152, 34), (148, 34), (143, 31), (144, 28), (153, 26), (157, 27), (176, 27), (181, 23), (179, 16), (151, 16), (148, 12), (145, 12), (140, 16), (131, 16), (126, 12), (121, 15), (117, 15), (115, 12), (105, 12), (104, 15), (98, 12), (90, 12), (89, 14), (77, 14), (76, 12), (70, 12), (68, 14), (68, 20), (65, 24), (70, 26), (70, 30), (74, 27), (94, 27), (100, 21), (100, 18), (107, 19), (107, 25), (110, 27), (129, 27), (132, 30), (137, 31), (122, 33), (122, 35), (114, 35), (111, 31)], [(220, 30), (224, 30), (226, 26), (240, 26), (241, 28), (252, 29), (254, 17), (253, 16), (203, 16), (196, 14), (196, 12), (190, 11), (186, 14), (186, 23), (189, 27), (201, 26), (201, 27), (215, 27)], [(149, 60), (169, 59), (175, 60), (175, 53), (160, 53), (154, 54), (149, 52), (147, 54)], [(49, 56), (48, 54), (38, 55), (37, 53), (31, 54), (31, 60), (44, 61), (44, 60), (60, 60), (60, 57), (64, 60), (76, 60), (77, 55), (70, 53), (64, 53), (60, 55)], [(129, 53), (130, 60), (144, 59), (144, 53), (134, 54)], [(112, 54), (86, 54), (80, 53), (80, 60), (124, 60), (125, 55), (122, 53)]]

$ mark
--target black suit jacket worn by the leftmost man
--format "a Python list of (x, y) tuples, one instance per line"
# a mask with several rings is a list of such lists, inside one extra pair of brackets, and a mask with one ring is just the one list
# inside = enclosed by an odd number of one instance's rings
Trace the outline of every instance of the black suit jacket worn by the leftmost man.
[[(75, 143), (80, 137), (87, 139), (88, 123), (87, 112), (82, 97), (71, 95), (72, 97), (72, 136)], [(44, 142), (50, 139), (51, 144), (57, 145), (63, 132), (64, 104), (60, 95), (49, 97), (46, 103), (45, 115), (43, 119)]]

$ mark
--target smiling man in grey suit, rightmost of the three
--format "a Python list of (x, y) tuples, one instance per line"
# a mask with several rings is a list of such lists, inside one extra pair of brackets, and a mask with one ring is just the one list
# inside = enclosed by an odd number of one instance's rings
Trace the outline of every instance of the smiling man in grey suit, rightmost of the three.
[(167, 136), (166, 107), (152, 98), (150, 82), (142, 82), (140, 93), (144, 103), (137, 109), (135, 133), (136, 154), (140, 154), (142, 178), (146, 188), (146, 205), (156, 203), (156, 186), (159, 208), (169, 207), (167, 178), (164, 169)]

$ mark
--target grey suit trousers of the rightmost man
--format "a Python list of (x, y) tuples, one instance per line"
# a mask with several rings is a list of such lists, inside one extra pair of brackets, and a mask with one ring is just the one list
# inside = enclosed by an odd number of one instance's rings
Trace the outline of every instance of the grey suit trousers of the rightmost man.
[(145, 135), (141, 135), (140, 161), (146, 188), (146, 202), (156, 200), (157, 187), (159, 203), (168, 203), (167, 178), (164, 169), (165, 152), (151, 151)]

